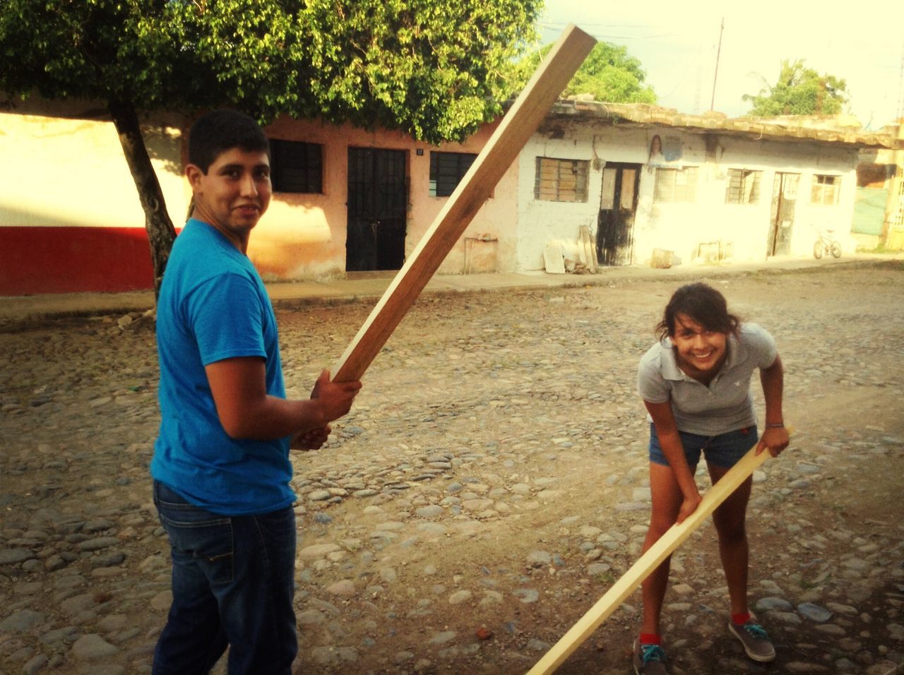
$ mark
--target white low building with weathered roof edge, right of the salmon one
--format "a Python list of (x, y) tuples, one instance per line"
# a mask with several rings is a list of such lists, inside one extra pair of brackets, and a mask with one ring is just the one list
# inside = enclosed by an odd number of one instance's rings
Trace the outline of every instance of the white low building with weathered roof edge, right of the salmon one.
[(818, 230), (852, 252), (858, 150), (892, 143), (799, 120), (560, 102), (518, 162), (516, 268), (541, 269), (544, 242), (579, 256), (581, 226), (602, 265), (664, 251), (682, 263), (808, 257)]

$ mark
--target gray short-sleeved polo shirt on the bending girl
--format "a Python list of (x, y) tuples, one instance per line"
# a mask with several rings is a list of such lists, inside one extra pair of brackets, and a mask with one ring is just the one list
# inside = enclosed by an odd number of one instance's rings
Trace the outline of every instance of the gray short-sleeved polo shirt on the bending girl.
[[(672, 401), (679, 431), (701, 436), (726, 434), (757, 423), (750, 376), (768, 368), (778, 352), (772, 335), (757, 323), (742, 323), (729, 336), (728, 355), (709, 386), (684, 374), (665, 338), (646, 352), (637, 368), (637, 391), (650, 403)], [(649, 416), (647, 416), (649, 418)]]

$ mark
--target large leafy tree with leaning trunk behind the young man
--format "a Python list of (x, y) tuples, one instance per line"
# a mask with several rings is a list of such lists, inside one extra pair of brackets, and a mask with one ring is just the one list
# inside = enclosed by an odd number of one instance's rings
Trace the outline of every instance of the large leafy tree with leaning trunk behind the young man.
[(175, 237), (139, 113), (234, 107), (462, 140), (501, 110), (542, 0), (0, 0), (0, 91), (104, 101), (145, 210)]

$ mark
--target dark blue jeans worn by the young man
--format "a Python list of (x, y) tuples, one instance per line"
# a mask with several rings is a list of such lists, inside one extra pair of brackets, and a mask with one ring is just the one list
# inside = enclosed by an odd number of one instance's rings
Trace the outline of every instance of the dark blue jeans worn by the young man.
[(230, 675), (289, 675), (298, 651), (295, 511), (223, 516), (159, 481), (154, 503), (173, 558), (173, 605), (154, 675), (206, 675), (227, 645)]

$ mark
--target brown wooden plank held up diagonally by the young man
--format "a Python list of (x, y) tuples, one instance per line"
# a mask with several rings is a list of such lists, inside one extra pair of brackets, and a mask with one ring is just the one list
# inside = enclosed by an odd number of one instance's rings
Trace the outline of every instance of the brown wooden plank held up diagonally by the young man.
[(596, 43), (573, 25), (561, 34), (336, 362), (335, 381), (361, 379)]

